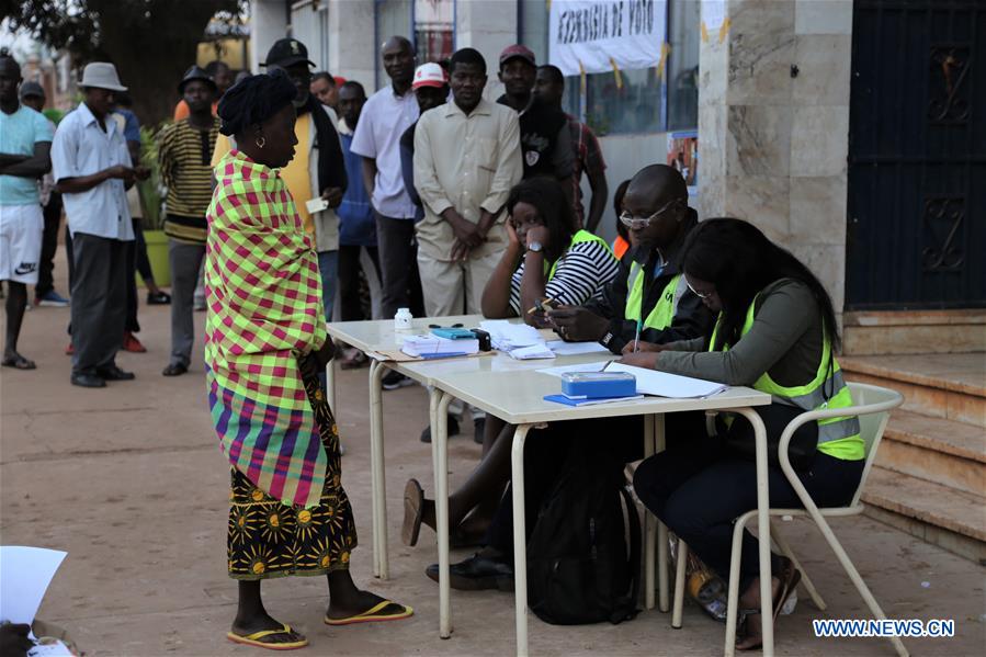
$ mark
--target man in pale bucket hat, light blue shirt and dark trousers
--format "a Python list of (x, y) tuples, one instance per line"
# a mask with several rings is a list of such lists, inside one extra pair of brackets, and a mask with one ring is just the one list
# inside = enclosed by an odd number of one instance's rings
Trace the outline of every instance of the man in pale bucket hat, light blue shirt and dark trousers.
[(73, 385), (101, 388), (134, 375), (116, 366), (126, 321), (126, 248), (134, 228), (126, 190), (148, 171), (134, 168), (115, 121), (114, 91), (126, 91), (104, 61), (82, 71), (84, 100), (61, 120), (52, 146), (55, 182), (72, 236)]

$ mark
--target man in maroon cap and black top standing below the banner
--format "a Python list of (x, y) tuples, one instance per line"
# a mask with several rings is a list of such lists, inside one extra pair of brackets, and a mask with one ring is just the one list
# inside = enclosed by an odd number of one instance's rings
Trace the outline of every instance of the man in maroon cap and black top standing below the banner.
[(536, 73), (537, 64), (529, 47), (514, 44), (503, 48), (499, 78), (505, 93), (497, 102), (513, 107), (520, 115), (524, 180), (545, 175), (565, 184), (575, 170), (568, 118), (559, 107), (548, 106), (534, 97)]

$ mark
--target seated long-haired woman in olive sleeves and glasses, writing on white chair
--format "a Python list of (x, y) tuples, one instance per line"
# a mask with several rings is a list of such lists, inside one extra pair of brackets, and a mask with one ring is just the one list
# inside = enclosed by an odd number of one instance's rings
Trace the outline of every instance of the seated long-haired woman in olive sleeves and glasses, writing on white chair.
[[(728, 385), (773, 397), (758, 414), (767, 427), (771, 507), (800, 507), (777, 460), (780, 434), (797, 415), (848, 408), (852, 396), (835, 352), (839, 333), (831, 298), (817, 277), (751, 224), (707, 219), (681, 251), (689, 287), (718, 314), (710, 335), (669, 344), (642, 342), (624, 363)], [(641, 500), (723, 578), (729, 575), (733, 521), (757, 508), (750, 423), (717, 420), (717, 434), (676, 441), (641, 464), (634, 488)], [(722, 418), (722, 415), (721, 415)], [(794, 433), (791, 462), (819, 507), (847, 503), (863, 472), (865, 445), (854, 417), (809, 422)], [(761, 644), (757, 540), (744, 534), (739, 564), (740, 649)], [(774, 556), (774, 618), (801, 575)]]

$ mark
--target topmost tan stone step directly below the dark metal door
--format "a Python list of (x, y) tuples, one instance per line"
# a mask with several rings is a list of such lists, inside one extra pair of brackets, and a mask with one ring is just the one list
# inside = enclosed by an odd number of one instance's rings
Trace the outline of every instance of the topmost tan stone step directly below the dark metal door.
[(842, 352), (852, 355), (986, 350), (983, 309), (854, 311), (842, 327)]

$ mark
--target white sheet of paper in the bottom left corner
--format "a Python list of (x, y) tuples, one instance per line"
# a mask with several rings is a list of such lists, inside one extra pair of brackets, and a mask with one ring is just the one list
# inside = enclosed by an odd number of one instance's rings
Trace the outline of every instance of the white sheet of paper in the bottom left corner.
[(34, 615), (66, 552), (44, 547), (0, 547), (0, 621), (34, 622)]

